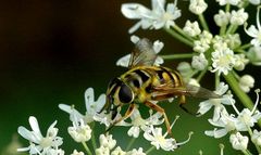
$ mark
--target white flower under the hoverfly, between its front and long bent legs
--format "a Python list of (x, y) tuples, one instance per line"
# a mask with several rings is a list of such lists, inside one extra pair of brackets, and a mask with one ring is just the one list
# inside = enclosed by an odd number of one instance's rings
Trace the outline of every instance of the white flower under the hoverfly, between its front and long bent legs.
[(162, 117), (162, 115), (159, 113), (156, 113), (153, 115), (151, 115), (151, 113), (150, 113), (150, 117), (147, 119), (144, 119), (141, 117), (139, 111), (137, 108), (135, 108), (130, 116), (133, 126), (127, 131), (127, 134), (129, 137), (138, 138), (140, 129), (144, 131), (147, 131), (150, 128), (150, 126), (161, 125), (164, 121), (164, 119), (160, 120), (161, 117)]

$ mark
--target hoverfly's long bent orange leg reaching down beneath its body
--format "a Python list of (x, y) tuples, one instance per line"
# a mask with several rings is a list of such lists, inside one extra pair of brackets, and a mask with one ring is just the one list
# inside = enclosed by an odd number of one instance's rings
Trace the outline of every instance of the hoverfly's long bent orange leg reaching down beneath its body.
[[(170, 135), (172, 135), (171, 125), (170, 125), (170, 121), (169, 121), (169, 119), (167, 119), (167, 116), (166, 116), (166, 114), (165, 114), (164, 108), (162, 108), (162, 107), (160, 107), (159, 105), (153, 104), (153, 103), (151, 103), (151, 102), (149, 102), (149, 101), (146, 101), (146, 102), (145, 102), (145, 105), (148, 106), (148, 107), (150, 107), (151, 109), (154, 109), (154, 111), (161, 113), (161, 114), (163, 115), (164, 120), (165, 120), (165, 126), (166, 126), (166, 129), (167, 129), (167, 133), (169, 133)], [(172, 135), (172, 137), (173, 137), (173, 135)]]

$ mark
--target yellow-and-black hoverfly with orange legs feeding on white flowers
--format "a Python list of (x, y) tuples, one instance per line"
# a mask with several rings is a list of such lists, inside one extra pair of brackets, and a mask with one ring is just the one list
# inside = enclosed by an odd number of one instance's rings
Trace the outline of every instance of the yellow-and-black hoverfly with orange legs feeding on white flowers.
[[(179, 105), (183, 107), (182, 105), (186, 103), (186, 95), (203, 99), (220, 98), (208, 89), (185, 85), (182, 76), (176, 70), (154, 66), (156, 59), (157, 54), (152, 43), (146, 38), (140, 39), (132, 52), (128, 63), (129, 69), (110, 81), (107, 90), (107, 103), (103, 109), (111, 112), (113, 120), (116, 114), (120, 113), (121, 107), (128, 105), (125, 115), (115, 120), (111, 127), (128, 118), (136, 104), (141, 103), (163, 115), (167, 132), (172, 134), (164, 108), (152, 103), (153, 101), (179, 96)], [(183, 109), (186, 108), (183, 107)]]

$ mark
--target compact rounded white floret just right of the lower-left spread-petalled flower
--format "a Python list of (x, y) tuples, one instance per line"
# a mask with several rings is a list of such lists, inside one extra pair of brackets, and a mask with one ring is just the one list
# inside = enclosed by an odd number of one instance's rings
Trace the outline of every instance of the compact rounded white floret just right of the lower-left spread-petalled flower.
[(78, 143), (87, 142), (91, 138), (90, 127), (84, 122), (83, 119), (78, 119), (77, 117), (75, 117), (75, 120), (73, 121), (73, 127), (69, 127), (67, 131), (74, 141)]

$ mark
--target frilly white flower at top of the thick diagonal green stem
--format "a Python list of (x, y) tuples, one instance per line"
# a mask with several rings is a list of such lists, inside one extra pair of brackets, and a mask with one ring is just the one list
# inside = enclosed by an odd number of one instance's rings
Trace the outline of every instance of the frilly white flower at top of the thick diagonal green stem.
[(228, 70), (232, 70), (236, 63), (236, 59), (234, 56), (234, 52), (229, 49), (226, 50), (215, 50), (212, 52), (212, 59), (213, 61), (213, 69), (211, 72), (217, 74), (224, 74), (227, 75)]

